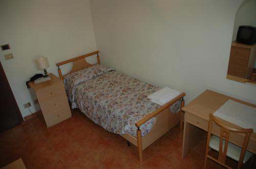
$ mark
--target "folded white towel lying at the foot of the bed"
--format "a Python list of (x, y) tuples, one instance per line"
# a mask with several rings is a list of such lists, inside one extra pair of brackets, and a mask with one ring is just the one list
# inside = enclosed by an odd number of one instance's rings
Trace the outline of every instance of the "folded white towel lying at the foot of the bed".
[(159, 91), (147, 96), (147, 98), (151, 99), (152, 102), (162, 106), (178, 95), (180, 95), (179, 91), (164, 87), (163, 89), (160, 89)]

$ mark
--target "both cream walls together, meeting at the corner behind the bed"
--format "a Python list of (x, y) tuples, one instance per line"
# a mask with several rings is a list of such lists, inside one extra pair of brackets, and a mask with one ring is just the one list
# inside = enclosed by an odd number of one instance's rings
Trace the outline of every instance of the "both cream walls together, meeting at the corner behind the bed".
[[(187, 102), (211, 89), (256, 103), (255, 87), (225, 78), (242, 1), (2, 0), (0, 44), (11, 49), (0, 51), (0, 61), (23, 116), (29, 115), (24, 103), (37, 110), (25, 85), (41, 73), (36, 58), (48, 57), (48, 71), (57, 75), (55, 63), (97, 47), (103, 64), (184, 91)], [(7, 53), (14, 59), (4, 60)]]

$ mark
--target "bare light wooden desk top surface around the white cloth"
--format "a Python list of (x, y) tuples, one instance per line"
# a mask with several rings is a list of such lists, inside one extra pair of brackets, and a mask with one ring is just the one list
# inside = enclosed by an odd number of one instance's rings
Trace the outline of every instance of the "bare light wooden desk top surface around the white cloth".
[[(243, 103), (248, 106), (256, 107), (255, 104), (251, 104), (236, 98), (232, 98), (214, 91), (206, 90), (200, 94), (193, 101), (189, 102), (186, 106), (182, 108), (183, 111), (193, 114), (201, 119), (209, 120), (209, 114), (214, 113), (219, 109), (228, 99)], [(231, 123), (228, 122), (230, 125)], [(233, 125), (234, 127), (238, 127)], [(251, 135), (251, 138), (256, 140), (256, 131)]]

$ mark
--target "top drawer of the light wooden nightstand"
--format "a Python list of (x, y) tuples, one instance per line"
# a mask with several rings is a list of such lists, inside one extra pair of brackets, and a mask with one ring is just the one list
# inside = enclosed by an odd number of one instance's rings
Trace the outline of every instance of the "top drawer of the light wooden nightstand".
[(38, 91), (36, 95), (38, 97), (38, 101), (41, 104), (63, 94), (66, 94), (65, 89), (62, 83), (58, 83), (58, 85), (54, 85), (47, 89)]

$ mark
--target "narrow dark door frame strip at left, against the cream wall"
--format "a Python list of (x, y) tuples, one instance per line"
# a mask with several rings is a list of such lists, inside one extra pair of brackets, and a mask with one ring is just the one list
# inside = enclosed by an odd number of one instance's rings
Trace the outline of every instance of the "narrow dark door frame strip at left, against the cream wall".
[[(8, 81), (8, 79), (7, 79), (7, 77), (6, 77), (5, 70), (4, 70), (4, 68), (3, 68), (1, 62), (0, 62), (0, 76), (2, 76), (3, 79), (4, 79), (3, 82), (5, 83), (5, 85), (6, 85), (6, 87), (7, 87), (7, 92), (8, 92), (8, 94), (10, 95), (10, 99), (11, 99), (12, 105), (13, 105), (13, 107), (14, 107), (14, 109), (15, 109), (16, 114), (17, 114), (18, 117), (19, 117), (20, 123), (22, 123), (22, 122), (24, 122), (24, 119), (23, 119), (23, 117), (22, 117), (22, 114), (20, 113), (20, 110), (19, 110), (19, 108), (18, 108), (18, 105), (17, 105), (17, 102), (16, 102), (16, 100), (15, 100), (15, 97), (14, 97), (14, 95), (13, 95), (13, 93), (12, 93), (12, 90), (11, 90), (11, 87), (10, 87), (10, 84), (9, 84), (9, 81)], [(0, 90), (1, 90), (1, 89), (0, 89)]]

